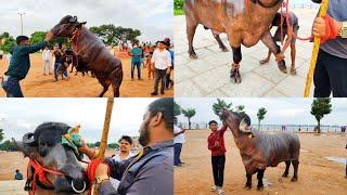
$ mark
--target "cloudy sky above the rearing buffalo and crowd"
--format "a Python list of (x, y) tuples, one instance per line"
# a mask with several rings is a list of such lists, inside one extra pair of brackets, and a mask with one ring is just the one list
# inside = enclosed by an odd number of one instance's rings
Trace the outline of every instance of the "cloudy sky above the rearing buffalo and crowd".
[(114, 24), (140, 29), (140, 40), (156, 41), (174, 37), (172, 0), (10, 0), (0, 5), (0, 34), (24, 35), (51, 29), (63, 16), (77, 15), (87, 27)]

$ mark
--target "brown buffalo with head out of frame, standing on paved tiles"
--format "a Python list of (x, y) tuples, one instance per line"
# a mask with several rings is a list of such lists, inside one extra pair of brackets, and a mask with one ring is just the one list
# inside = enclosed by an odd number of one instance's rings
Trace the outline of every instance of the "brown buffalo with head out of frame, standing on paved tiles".
[[(233, 53), (231, 79), (241, 82), (241, 44), (249, 48), (261, 40), (278, 58), (281, 72), (286, 73), (280, 47), (272, 39), (269, 26), (283, 0), (185, 0), (184, 11), (189, 56), (196, 58), (193, 38), (198, 24), (211, 29), (219, 48), (228, 51), (219, 38), (226, 32)], [(249, 2), (246, 6), (246, 2)]]

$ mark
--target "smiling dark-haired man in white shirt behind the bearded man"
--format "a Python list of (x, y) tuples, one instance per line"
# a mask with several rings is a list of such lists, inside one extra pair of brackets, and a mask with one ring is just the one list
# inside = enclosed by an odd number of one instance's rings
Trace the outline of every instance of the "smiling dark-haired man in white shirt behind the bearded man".
[[(115, 156), (113, 157), (115, 161), (123, 161), (133, 156), (133, 154), (130, 152), (132, 147), (132, 139), (130, 136), (123, 135), (118, 141), (118, 143), (119, 143), (119, 153), (116, 152)], [(120, 182), (119, 180), (110, 178), (110, 181), (115, 188), (118, 188), (118, 185)]]

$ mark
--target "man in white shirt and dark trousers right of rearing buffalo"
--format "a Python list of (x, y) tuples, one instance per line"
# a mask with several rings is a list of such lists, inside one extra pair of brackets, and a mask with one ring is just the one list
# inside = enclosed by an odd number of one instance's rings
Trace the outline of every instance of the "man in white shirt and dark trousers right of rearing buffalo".
[(171, 67), (171, 55), (166, 50), (166, 42), (159, 41), (158, 49), (153, 52), (151, 60), (152, 66), (154, 66), (154, 90), (152, 95), (158, 94), (158, 86), (160, 81), (160, 94), (164, 94), (166, 73)]

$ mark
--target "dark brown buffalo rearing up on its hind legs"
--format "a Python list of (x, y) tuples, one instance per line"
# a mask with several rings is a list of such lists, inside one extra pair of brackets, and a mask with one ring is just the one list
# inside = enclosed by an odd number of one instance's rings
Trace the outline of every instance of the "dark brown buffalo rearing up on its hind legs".
[[(123, 81), (121, 61), (113, 56), (104, 43), (93, 35), (83, 23), (79, 23), (76, 16), (67, 15), (51, 29), (54, 37), (67, 37), (72, 41), (73, 50), (81, 58), (86, 70), (95, 74), (103, 91), (103, 96), (112, 84), (114, 96), (119, 96), (119, 88)], [(80, 65), (78, 65), (80, 66)]]

